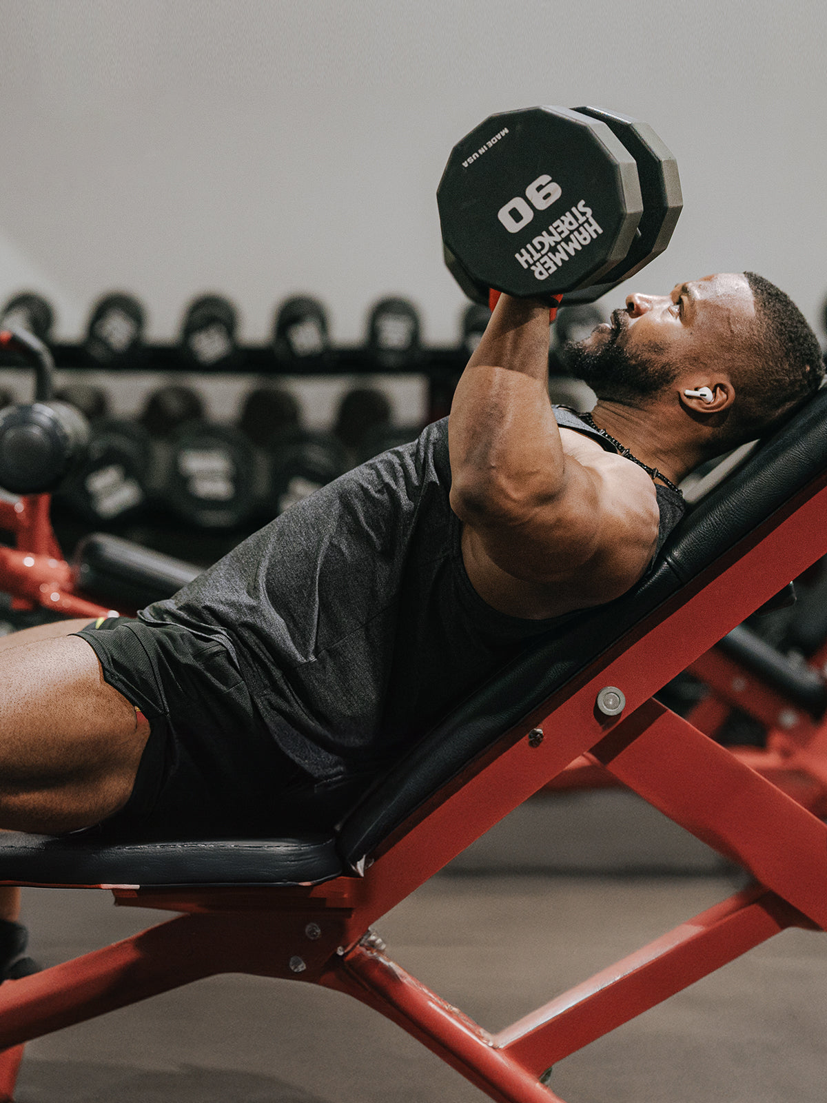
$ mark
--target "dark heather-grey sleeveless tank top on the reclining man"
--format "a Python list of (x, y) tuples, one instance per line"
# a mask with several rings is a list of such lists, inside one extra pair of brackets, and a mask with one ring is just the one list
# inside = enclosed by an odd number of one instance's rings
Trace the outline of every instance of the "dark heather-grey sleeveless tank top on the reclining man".
[[(576, 414), (560, 425), (600, 440)], [(319, 780), (380, 768), (536, 636), (476, 593), (449, 504), (448, 418), (322, 488), (142, 610), (232, 653), (278, 746)], [(658, 549), (683, 499), (657, 485)]]

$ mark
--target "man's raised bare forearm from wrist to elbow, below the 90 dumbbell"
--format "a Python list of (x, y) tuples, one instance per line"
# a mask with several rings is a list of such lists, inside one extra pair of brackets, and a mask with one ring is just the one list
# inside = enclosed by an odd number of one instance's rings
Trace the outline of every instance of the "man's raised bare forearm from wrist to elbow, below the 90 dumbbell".
[[(457, 385), (452, 504), (555, 492), (563, 454), (548, 398), (548, 306), (503, 296)], [(459, 510), (458, 510), (459, 512)]]

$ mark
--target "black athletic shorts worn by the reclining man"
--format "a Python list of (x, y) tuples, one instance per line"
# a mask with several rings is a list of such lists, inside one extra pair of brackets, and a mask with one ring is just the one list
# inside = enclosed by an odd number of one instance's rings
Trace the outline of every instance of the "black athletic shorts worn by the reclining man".
[(135, 788), (94, 828), (112, 840), (326, 831), (364, 781), (315, 782), (279, 750), (227, 649), (176, 624), (111, 618), (76, 633), (150, 724)]

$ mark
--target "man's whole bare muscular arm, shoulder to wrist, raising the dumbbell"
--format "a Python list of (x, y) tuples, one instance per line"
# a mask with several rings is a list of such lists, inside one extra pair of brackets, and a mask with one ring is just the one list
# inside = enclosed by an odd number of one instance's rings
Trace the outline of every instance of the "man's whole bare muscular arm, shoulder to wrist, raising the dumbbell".
[(496, 608), (547, 617), (609, 601), (657, 538), (649, 478), (548, 399), (548, 307), (503, 296), (454, 395), (451, 506), (471, 581)]

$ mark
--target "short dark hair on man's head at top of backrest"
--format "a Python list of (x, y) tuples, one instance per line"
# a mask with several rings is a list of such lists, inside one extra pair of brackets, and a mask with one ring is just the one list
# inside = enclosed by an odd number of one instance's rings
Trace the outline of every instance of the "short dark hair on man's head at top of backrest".
[[(738, 431), (758, 437), (791, 414), (821, 385), (821, 349), (804, 314), (788, 295), (756, 272), (744, 272), (755, 300), (750, 344), (754, 365), (735, 379)], [(734, 428), (734, 426), (733, 426)]]

